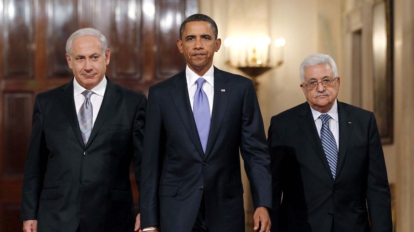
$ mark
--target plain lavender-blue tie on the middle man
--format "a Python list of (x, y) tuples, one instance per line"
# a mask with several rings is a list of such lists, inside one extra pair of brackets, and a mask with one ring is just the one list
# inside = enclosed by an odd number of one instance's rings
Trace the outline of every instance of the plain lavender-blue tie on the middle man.
[(208, 104), (207, 94), (203, 90), (203, 84), (206, 80), (202, 77), (197, 79), (197, 89), (194, 95), (193, 114), (196, 121), (197, 131), (203, 151), (206, 153), (208, 133), (210, 130), (210, 107)]

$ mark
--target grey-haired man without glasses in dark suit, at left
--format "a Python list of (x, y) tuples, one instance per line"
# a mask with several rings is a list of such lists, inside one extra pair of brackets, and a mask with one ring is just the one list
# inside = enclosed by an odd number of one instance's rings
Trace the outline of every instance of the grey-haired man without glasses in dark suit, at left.
[(75, 31), (66, 52), (74, 79), (35, 99), (23, 230), (132, 232), (129, 167), (133, 159), (138, 184), (146, 98), (105, 77), (110, 50), (100, 31)]

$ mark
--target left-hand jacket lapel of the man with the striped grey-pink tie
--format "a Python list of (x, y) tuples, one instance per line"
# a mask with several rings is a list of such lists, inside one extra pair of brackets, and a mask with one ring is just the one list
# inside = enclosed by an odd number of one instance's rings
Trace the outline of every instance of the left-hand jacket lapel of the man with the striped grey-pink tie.
[(73, 98), (73, 78), (68, 84), (62, 87), (62, 91), (61, 101), (64, 108), (63, 110), (64, 112), (69, 112), (69, 114), (66, 114), (66, 116), (68, 117), (69, 123), (72, 126), (73, 133), (75, 134), (75, 137), (79, 143), (84, 146), (82, 134), (80, 133), (79, 129), (79, 121), (76, 115), (75, 100)]

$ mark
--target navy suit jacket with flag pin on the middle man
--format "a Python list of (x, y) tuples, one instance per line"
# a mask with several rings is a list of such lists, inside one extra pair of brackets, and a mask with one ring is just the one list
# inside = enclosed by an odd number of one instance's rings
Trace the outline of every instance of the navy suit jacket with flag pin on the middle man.
[(204, 154), (185, 71), (150, 87), (142, 180), (141, 226), (189, 232), (203, 192), (209, 231), (244, 231), (239, 149), (255, 207), (271, 207), (270, 158), (251, 80), (214, 68), (214, 101)]

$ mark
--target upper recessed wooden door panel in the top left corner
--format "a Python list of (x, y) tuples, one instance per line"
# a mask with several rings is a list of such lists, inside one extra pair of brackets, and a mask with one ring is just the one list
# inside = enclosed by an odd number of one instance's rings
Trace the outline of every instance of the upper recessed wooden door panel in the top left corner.
[(33, 0), (4, 0), (4, 78), (33, 78)]

